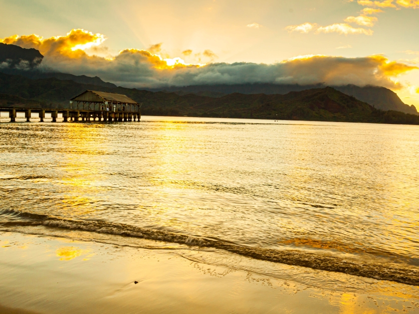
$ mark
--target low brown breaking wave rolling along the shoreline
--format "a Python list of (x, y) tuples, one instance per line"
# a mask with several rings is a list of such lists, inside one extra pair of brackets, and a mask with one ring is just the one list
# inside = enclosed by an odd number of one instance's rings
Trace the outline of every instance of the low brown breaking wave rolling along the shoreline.
[(419, 286), (419, 269), (415, 267), (401, 266), (392, 263), (374, 263), (368, 261), (360, 263), (344, 260), (339, 257), (302, 252), (298, 250), (275, 250), (240, 246), (208, 238), (193, 237), (185, 234), (146, 229), (121, 223), (111, 223), (95, 220), (86, 221), (62, 219), (47, 215), (16, 212), (12, 210), (2, 211), (2, 213), (8, 213), (13, 216), (17, 215), (22, 218), (31, 219), (30, 221), (14, 220), (2, 222), (0, 225), (3, 227), (45, 226), (105, 233), (118, 236), (137, 237), (149, 240), (186, 244), (189, 246), (211, 247), (258, 260)]

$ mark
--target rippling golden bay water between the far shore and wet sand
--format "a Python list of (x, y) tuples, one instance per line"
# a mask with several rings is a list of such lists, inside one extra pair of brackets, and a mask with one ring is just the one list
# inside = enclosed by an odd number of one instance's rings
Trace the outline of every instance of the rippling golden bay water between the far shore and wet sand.
[(1, 119), (0, 230), (419, 286), (418, 126), (142, 120)]

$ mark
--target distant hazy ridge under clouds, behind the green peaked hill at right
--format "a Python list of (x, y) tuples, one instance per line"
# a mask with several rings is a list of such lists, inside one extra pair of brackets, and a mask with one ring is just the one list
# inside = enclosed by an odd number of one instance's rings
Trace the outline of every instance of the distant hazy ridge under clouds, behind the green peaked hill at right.
[[(222, 97), (232, 93), (240, 94), (287, 94), (289, 92), (299, 92), (313, 88), (324, 88), (323, 84), (316, 85), (298, 85), (298, 84), (235, 84), (235, 85), (194, 85), (184, 87), (164, 87), (161, 89), (148, 89), (150, 91), (175, 92), (178, 95), (186, 95), (188, 93), (195, 95), (203, 95), (209, 97)], [(410, 114), (418, 114), (415, 106), (409, 106), (402, 102), (397, 94), (388, 88), (380, 86), (359, 87), (356, 85), (332, 86), (336, 90), (341, 91), (349, 96), (369, 103), (377, 109), (396, 110)]]

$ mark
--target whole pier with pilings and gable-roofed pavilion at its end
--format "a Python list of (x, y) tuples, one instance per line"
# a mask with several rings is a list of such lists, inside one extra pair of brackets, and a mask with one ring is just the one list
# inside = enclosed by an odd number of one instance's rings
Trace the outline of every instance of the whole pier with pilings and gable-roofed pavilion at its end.
[(141, 106), (131, 98), (114, 93), (85, 91), (70, 100), (70, 108), (21, 108), (0, 107), (0, 112), (8, 112), (10, 122), (16, 121), (17, 113), (24, 112), (27, 122), (32, 113), (38, 113), (40, 122), (45, 119), (45, 113), (50, 113), (52, 122), (57, 122), (58, 114), (62, 114), (63, 122), (103, 121), (131, 122), (140, 121)]

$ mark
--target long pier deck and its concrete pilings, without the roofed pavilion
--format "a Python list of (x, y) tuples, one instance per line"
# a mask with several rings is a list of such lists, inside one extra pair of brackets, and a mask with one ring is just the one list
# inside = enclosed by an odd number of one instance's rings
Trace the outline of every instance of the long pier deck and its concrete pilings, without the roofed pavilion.
[[(40, 122), (44, 122), (45, 113), (50, 113), (52, 122), (57, 122), (58, 114), (62, 114), (63, 122), (69, 121), (103, 121), (103, 122), (131, 122), (140, 121), (140, 112), (131, 111), (105, 111), (105, 110), (71, 110), (71, 109), (44, 109), (44, 108), (13, 108), (0, 107), (1, 112), (8, 112), (10, 122), (16, 121), (16, 114), (24, 112), (29, 122), (32, 113), (38, 113)], [(35, 118), (36, 119), (36, 118)]]

